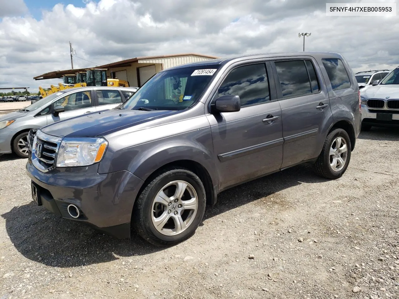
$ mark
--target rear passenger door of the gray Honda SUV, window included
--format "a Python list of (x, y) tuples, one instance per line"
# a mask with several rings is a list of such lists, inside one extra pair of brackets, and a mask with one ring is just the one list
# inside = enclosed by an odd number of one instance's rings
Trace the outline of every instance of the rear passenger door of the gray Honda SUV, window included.
[(284, 138), (281, 168), (317, 157), (332, 124), (330, 100), (312, 58), (274, 61)]

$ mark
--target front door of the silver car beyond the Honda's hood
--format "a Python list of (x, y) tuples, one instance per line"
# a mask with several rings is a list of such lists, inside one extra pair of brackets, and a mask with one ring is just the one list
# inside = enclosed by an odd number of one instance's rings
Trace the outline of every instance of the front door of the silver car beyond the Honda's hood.
[[(95, 112), (92, 90), (84, 90), (69, 94), (56, 100), (51, 105), (51, 114), (47, 115), (47, 124), (66, 120), (75, 116), (89, 112)], [(64, 107), (64, 112), (59, 112), (57, 116), (53, 114), (53, 109), (57, 106)]]

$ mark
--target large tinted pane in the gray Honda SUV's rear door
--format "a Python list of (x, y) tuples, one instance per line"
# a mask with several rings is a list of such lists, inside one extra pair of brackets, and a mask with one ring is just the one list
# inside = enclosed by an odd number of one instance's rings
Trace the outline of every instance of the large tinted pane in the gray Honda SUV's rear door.
[(282, 96), (300, 96), (312, 93), (308, 71), (303, 60), (275, 62)]

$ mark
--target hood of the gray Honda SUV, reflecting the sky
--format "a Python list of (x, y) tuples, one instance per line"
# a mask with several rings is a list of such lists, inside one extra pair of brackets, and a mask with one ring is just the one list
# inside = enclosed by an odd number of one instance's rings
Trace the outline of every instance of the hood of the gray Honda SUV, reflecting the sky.
[(93, 137), (121, 127), (149, 122), (176, 112), (180, 111), (105, 110), (56, 122), (41, 128), (41, 131), (57, 137)]

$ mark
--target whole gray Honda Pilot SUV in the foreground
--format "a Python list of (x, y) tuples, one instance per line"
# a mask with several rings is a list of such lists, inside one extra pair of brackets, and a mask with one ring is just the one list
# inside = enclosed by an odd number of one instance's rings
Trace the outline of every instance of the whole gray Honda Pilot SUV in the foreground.
[(339, 54), (201, 61), (154, 75), (118, 108), (41, 128), (26, 169), (38, 205), (170, 246), (229, 187), (304, 162), (341, 177), (360, 119), (358, 84)]

